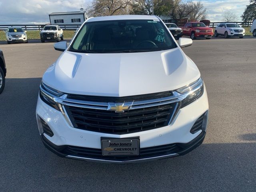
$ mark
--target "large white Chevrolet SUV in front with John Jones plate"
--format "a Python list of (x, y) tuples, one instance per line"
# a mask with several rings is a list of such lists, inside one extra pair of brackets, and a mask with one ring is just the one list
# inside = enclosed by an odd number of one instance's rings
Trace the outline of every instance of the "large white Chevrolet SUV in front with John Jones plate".
[(89, 18), (46, 70), (36, 116), (42, 142), (72, 159), (130, 163), (202, 144), (206, 88), (196, 64), (157, 16)]

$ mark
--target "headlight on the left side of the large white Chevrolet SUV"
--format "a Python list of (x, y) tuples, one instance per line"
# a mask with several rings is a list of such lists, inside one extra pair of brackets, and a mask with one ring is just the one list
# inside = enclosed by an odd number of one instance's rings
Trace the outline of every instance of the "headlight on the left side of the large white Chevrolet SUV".
[(39, 95), (43, 102), (45, 102), (46, 104), (48, 104), (49, 106), (58, 111), (62, 111), (61, 105), (54, 101), (54, 96), (60, 97), (64, 95), (64, 93), (55, 90), (41, 82)]

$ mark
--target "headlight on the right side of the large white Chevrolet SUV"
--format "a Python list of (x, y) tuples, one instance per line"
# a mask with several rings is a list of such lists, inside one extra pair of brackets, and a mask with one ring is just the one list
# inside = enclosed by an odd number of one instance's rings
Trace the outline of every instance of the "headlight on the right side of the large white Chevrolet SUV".
[(182, 101), (181, 108), (197, 100), (204, 93), (204, 82), (202, 78), (199, 78), (195, 82), (192, 82), (182, 88), (176, 90), (180, 94), (188, 94)]

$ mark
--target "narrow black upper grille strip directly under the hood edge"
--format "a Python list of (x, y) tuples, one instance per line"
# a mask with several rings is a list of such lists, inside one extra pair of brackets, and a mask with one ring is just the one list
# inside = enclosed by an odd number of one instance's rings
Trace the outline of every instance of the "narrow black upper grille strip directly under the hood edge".
[(144, 94), (144, 95), (135, 95), (135, 96), (125, 96), (125, 97), (105, 97), (105, 96), (90, 96), (90, 95), (76, 95), (76, 94), (68, 94), (68, 99), (74, 100), (83, 100), (83, 101), (93, 101), (93, 102), (113, 102), (113, 103), (123, 103), (129, 101), (142, 101), (156, 98), (164, 98), (172, 96), (171, 91), (152, 93), (152, 94)]

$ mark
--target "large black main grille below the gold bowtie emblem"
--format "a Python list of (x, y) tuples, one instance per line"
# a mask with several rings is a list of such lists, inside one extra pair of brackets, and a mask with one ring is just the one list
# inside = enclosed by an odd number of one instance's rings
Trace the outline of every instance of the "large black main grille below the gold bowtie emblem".
[(65, 106), (75, 128), (109, 134), (128, 134), (167, 126), (176, 103), (116, 113)]

